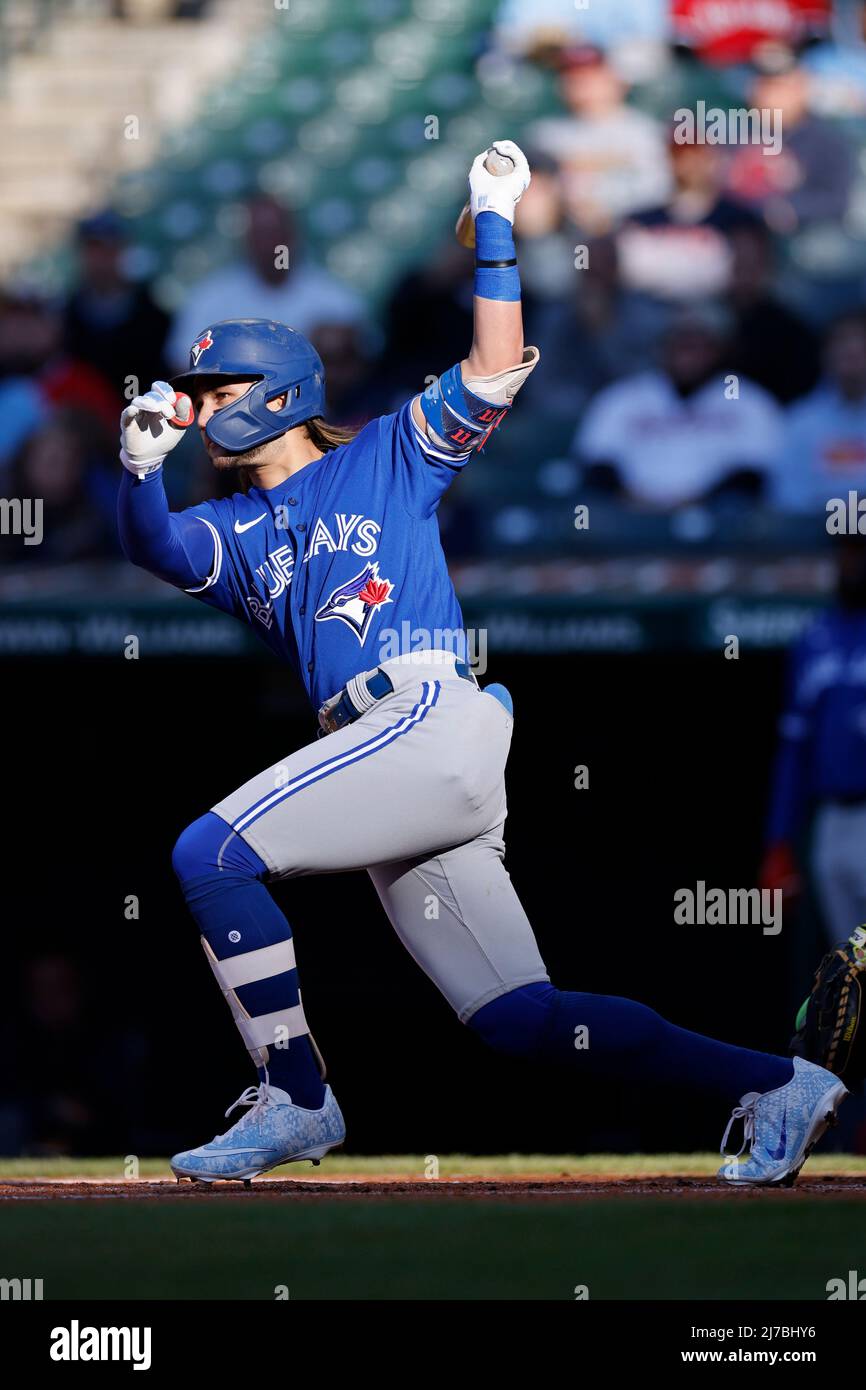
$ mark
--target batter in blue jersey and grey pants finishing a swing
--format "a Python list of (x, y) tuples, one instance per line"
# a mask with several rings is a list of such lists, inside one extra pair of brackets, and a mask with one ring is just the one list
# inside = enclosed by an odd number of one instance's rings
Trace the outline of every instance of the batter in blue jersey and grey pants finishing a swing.
[[(505, 870), (512, 703), (502, 687), (478, 687), (452, 641), (463, 619), (436, 524), (442, 493), (539, 357), (523, 342), (512, 235), (530, 170), (514, 143), (495, 150), (510, 172), (493, 177), (487, 152), (470, 172), (468, 356), (396, 414), (356, 434), (329, 425), (318, 356), (265, 320), (203, 325), (189, 370), (122, 414), (126, 556), (247, 623), (318, 712), (317, 738), (275, 749), (284, 756), (174, 851), (259, 1079), (224, 1134), (171, 1159), (178, 1177), (247, 1180), (343, 1141), (292, 931), (267, 888), (297, 874), (366, 869), (400, 940), (489, 1045), (577, 1077), (694, 1086), (726, 1106), (741, 1097), (731, 1123), (742, 1119), (740, 1155), (749, 1154), (720, 1169), (730, 1182), (792, 1180), (847, 1094), (801, 1058), (716, 1042), (630, 999), (555, 988)], [(240, 491), (171, 513), (163, 466), (193, 414), (213, 466), (236, 468)], [(573, 1095), (580, 1104), (577, 1086)]]

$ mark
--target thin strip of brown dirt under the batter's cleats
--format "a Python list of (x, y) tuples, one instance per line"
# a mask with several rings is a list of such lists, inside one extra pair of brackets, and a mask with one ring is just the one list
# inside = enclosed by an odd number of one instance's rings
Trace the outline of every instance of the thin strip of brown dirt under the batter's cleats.
[(222, 1201), (587, 1201), (588, 1198), (680, 1197), (727, 1201), (802, 1201), (844, 1198), (866, 1200), (866, 1177), (823, 1175), (802, 1177), (791, 1188), (731, 1188), (714, 1177), (613, 1177), (584, 1173), (580, 1177), (509, 1175), (485, 1179), (475, 1175), (436, 1180), (341, 1173), (328, 1177), (259, 1177), (243, 1183), (189, 1183), (174, 1179), (7, 1179), (0, 1183), (0, 1202), (46, 1201), (131, 1201), (131, 1202), (222, 1202)]

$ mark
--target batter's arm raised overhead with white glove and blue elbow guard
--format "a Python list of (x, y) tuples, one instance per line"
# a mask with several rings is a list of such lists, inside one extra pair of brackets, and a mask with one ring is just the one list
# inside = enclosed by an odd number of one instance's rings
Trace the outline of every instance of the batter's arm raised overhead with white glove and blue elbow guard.
[[(506, 172), (495, 174), (493, 168)], [(514, 208), (530, 183), (523, 150), (513, 140), (496, 140), (475, 158), (468, 183), (466, 215), (474, 224), (475, 245), (473, 345), (468, 356), (443, 373), (413, 406), (416, 423), (427, 436), (453, 452), (481, 448), (512, 409), (539, 357), (537, 348), (523, 343), (513, 236)]]

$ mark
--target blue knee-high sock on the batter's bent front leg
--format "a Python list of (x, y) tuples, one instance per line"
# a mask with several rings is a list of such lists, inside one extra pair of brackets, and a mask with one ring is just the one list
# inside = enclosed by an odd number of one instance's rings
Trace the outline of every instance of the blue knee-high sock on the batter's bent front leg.
[[(217, 960), (291, 942), (292, 930), (264, 883), (267, 865), (220, 816), (209, 812), (178, 840), (172, 856), (186, 903)], [(286, 945), (286, 955), (291, 947)], [(253, 962), (254, 973), (254, 956)], [(292, 956), (293, 960), (293, 956)], [(247, 972), (249, 973), (249, 972)], [(257, 1019), (281, 1015), (300, 1004), (297, 970), (265, 974), (235, 990)], [(268, 1080), (288, 1091), (296, 1105), (318, 1109), (324, 1084), (309, 1034), (268, 1044)], [(264, 1070), (259, 1072), (264, 1080)]]

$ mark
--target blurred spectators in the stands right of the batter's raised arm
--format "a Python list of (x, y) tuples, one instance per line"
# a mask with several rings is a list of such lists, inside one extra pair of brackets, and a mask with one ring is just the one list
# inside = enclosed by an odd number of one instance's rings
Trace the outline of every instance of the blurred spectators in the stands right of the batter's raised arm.
[(856, 297), (826, 316), (820, 288), (787, 284), (781, 264), (787, 239), (844, 222), (853, 140), (815, 114), (815, 78), (790, 50), (745, 92), (781, 114), (778, 153), (683, 142), (683, 122), (628, 104), (599, 49), (560, 68), (567, 114), (530, 131), (518, 215), (546, 354), (534, 407), (575, 424), (589, 491), (820, 514), (866, 481), (866, 317)]

